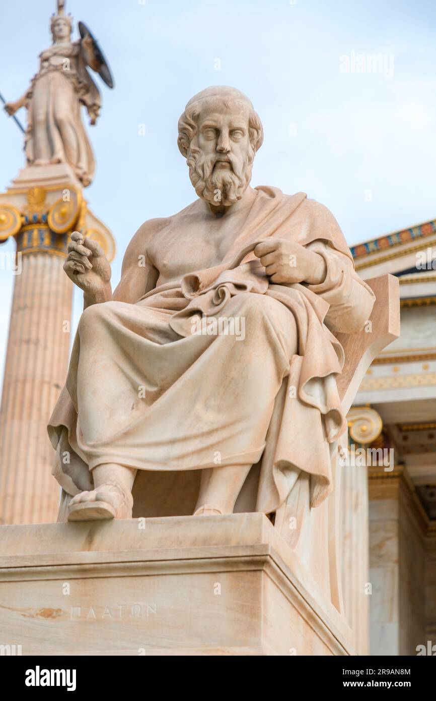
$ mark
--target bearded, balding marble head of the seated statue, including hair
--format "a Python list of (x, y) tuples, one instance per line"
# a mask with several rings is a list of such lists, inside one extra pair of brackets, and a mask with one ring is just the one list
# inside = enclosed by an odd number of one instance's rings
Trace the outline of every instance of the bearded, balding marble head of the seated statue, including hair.
[(240, 200), (251, 180), (262, 123), (248, 97), (213, 86), (188, 102), (178, 121), (178, 148), (199, 197), (213, 205)]

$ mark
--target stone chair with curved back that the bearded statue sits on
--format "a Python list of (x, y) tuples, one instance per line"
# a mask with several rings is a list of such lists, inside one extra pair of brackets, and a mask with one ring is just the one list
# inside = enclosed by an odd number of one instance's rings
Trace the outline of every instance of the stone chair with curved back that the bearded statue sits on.
[[(358, 334), (336, 334), (342, 344), (346, 363), (342, 374), (337, 378), (339, 397), (342, 400), (344, 414), (348, 413), (360, 382), (372, 360), (391, 341), (400, 334), (400, 304), (398, 278), (382, 275), (366, 280), (375, 294), (376, 301), (370, 316), (370, 324)], [(286, 392), (283, 383), (281, 393)], [(281, 394), (279, 393), (279, 395)], [(276, 398), (276, 404), (280, 396)], [(346, 445), (347, 436), (342, 436), (340, 443)], [(241, 493), (237, 499), (234, 513), (256, 511), (256, 496), (261, 479), (262, 460), (253, 465)], [(299, 512), (292, 493), (286, 503), (274, 514), (269, 515), (274, 529), (288, 543), (298, 562), (307, 575), (316, 584), (321, 596), (330, 601), (341, 615), (344, 613), (342, 602), (341, 573), (341, 469), (337, 463), (337, 454), (332, 454), (335, 490), (320, 506), (311, 510), (311, 526), (292, 529), (290, 519), (297, 517), (306, 522), (309, 514)], [(358, 469), (358, 468), (356, 468)], [(146, 472), (139, 471), (134, 489), (133, 517), (169, 517), (191, 515), (199, 490), (199, 470), (185, 472)], [(223, 518), (223, 517), (213, 517)], [(321, 540), (320, 540), (321, 536)]]

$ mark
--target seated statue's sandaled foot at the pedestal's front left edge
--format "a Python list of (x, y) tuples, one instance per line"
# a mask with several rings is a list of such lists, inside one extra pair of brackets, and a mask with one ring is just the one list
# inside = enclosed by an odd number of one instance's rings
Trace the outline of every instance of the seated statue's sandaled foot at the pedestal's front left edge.
[(69, 503), (68, 520), (131, 519), (132, 507), (132, 494), (117, 482), (107, 482), (74, 496)]

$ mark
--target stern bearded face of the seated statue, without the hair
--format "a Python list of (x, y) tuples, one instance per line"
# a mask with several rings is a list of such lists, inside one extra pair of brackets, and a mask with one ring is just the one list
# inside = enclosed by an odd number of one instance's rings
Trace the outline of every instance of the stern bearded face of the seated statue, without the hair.
[(197, 195), (226, 207), (240, 200), (251, 180), (254, 155), (244, 106), (205, 109), (198, 117), (187, 158)]

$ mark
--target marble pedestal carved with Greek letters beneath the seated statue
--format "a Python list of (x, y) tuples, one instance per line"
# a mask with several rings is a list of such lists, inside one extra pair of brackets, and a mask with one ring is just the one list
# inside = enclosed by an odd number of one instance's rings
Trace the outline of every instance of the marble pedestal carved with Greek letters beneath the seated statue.
[(260, 513), (0, 526), (0, 644), (23, 655), (353, 655)]

